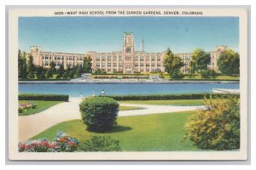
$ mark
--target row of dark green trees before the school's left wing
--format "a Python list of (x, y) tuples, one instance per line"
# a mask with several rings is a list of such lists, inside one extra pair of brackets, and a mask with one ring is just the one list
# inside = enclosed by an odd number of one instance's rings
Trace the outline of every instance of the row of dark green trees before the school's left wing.
[(33, 57), (30, 54), (26, 59), (26, 53), (18, 51), (18, 76), (19, 79), (72, 79), (76, 77), (81, 77), (82, 73), (91, 72), (91, 59), (90, 56), (87, 56), (83, 60), (83, 65), (74, 65), (70, 67), (67, 65), (67, 69), (64, 69), (64, 65), (59, 65), (59, 68), (55, 68), (55, 63), (50, 62), (49, 68), (44, 68), (43, 66), (34, 65)]

